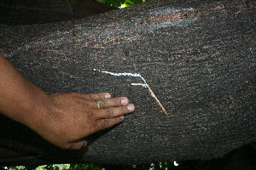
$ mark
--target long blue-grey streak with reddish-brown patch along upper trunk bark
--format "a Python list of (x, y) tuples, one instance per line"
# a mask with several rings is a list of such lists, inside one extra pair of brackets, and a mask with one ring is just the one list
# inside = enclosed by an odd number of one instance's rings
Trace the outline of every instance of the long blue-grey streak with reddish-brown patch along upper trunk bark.
[[(44, 45), (60, 45), (68, 41), (80, 41), (87, 38), (88, 41), (96, 39), (99, 48), (106, 48), (116, 39), (129, 38), (130, 41), (136, 41), (137, 34), (153, 32), (160, 28), (172, 26), (188, 26), (195, 22), (199, 13), (195, 8), (170, 8), (161, 7), (137, 14), (132, 20), (124, 20), (119, 24), (109, 24), (106, 26), (84, 26), (84, 23), (74, 26), (71, 30), (56, 31), (47, 37), (43, 37), (36, 42), (27, 43), (25, 46), (17, 48), (11, 54), (4, 54), (10, 57), (18, 54), (20, 51), (27, 51), (32, 48), (42, 47)], [(65, 37), (63, 36), (65, 35)], [(50, 40), (49, 40), (50, 39)], [(102, 41), (102, 42), (101, 42)], [(83, 42), (82, 46), (88, 46), (89, 42)], [(95, 48), (96, 48), (95, 47)]]

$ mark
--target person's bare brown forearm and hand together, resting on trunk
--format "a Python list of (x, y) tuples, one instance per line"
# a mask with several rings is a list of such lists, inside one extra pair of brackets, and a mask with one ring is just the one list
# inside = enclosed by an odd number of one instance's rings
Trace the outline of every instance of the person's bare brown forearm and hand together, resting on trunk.
[(134, 109), (129, 99), (108, 93), (45, 94), (0, 54), (0, 113), (62, 149), (78, 150), (87, 144), (84, 137), (122, 122)]

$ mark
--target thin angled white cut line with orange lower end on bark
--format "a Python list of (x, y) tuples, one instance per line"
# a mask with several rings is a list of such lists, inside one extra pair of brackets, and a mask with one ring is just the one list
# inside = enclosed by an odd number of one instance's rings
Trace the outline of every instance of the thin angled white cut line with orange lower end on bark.
[[(97, 71), (94, 69), (94, 71)], [(100, 71), (102, 73), (110, 74), (115, 77), (140, 77), (144, 83), (131, 83), (133, 86), (143, 86), (143, 88), (147, 88), (150, 95), (155, 99), (157, 105), (159, 105), (162, 109), (162, 111), (168, 116), (169, 114), (167, 113), (166, 109), (164, 108), (163, 105), (161, 105), (160, 100), (157, 99), (157, 97), (154, 95), (154, 92), (152, 89), (148, 86), (148, 83), (146, 82), (145, 78), (143, 78), (139, 73), (129, 73), (129, 72), (123, 72), (123, 73), (115, 73), (115, 72), (109, 72), (109, 71)]]

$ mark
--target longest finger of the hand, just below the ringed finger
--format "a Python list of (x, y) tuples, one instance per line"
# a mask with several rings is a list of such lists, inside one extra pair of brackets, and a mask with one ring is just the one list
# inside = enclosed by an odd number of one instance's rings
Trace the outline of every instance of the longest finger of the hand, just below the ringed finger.
[(119, 106), (119, 107), (109, 107), (108, 109), (102, 109), (97, 111), (97, 119), (111, 119), (114, 117), (124, 116), (135, 110), (135, 106), (132, 104)]

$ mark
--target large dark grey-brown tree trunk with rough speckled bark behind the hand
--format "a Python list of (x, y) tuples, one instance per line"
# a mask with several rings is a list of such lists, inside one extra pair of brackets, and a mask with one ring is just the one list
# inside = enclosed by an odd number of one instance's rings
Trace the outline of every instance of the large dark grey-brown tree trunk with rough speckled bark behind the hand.
[[(137, 109), (75, 151), (3, 117), (0, 145), (36, 155), (23, 164), (133, 164), (211, 159), (256, 141), (255, 7), (161, 0), (84, 20), (2, 26), (1, 51), (45, 92), (109, 92)], [(139, 73), (169, 116), (147, 88), (131, 85), (142, 78), (102, 71)]]

